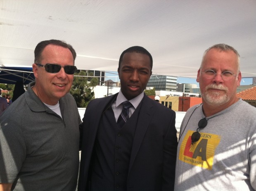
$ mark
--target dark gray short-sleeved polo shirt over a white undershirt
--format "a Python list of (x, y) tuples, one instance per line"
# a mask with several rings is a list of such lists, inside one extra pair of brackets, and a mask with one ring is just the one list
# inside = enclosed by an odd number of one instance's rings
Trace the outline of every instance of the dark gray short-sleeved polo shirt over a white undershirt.
[(62, 118), (31, 87), (0, 116), (0, 182), (19, 191), (72, 191), (79, 165), (81, 119), (71, 94), (59, 100)]

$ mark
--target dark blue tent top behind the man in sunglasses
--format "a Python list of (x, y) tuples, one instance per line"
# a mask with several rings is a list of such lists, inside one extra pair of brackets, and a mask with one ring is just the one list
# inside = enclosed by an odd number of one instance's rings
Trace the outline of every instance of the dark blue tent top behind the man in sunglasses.
[(0, 83), (15, 84), (21, 82), (28, 84), (35, 80), (32, 67), (1, 67), (0, 66)]

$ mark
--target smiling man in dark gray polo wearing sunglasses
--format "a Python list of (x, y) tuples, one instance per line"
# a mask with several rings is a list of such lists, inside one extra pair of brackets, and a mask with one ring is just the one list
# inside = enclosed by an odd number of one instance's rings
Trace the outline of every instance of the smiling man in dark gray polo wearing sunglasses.
[(81, 119), (69, 90), (76, 52), (45, 40), (34, 53), (36, 81), (0, 116), (0, 190), (75, 191)]

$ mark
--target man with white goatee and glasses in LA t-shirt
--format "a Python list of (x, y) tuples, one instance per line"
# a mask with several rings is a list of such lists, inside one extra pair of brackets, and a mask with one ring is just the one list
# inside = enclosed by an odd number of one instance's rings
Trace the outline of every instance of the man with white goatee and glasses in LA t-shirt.
[(202, 104), (181, 124), (175, 190), (256, 190), (256, 108), (236, 97), (239, 54), (225, 44), (204, 53)]

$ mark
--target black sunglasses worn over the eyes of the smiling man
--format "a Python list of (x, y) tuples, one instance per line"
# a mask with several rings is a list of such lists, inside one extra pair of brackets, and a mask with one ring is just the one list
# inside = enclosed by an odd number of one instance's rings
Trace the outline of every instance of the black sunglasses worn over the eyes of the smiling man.
[[(35, 63), (36, 64), (36, 63)], [(59, 64), (36, 64), (45, 68), (45, 71), (49, 73), (58, 73), (61, 68), (64, 68), (66, 74), (74, 74), (76, 72), (76, 66), (61, 66)]]

